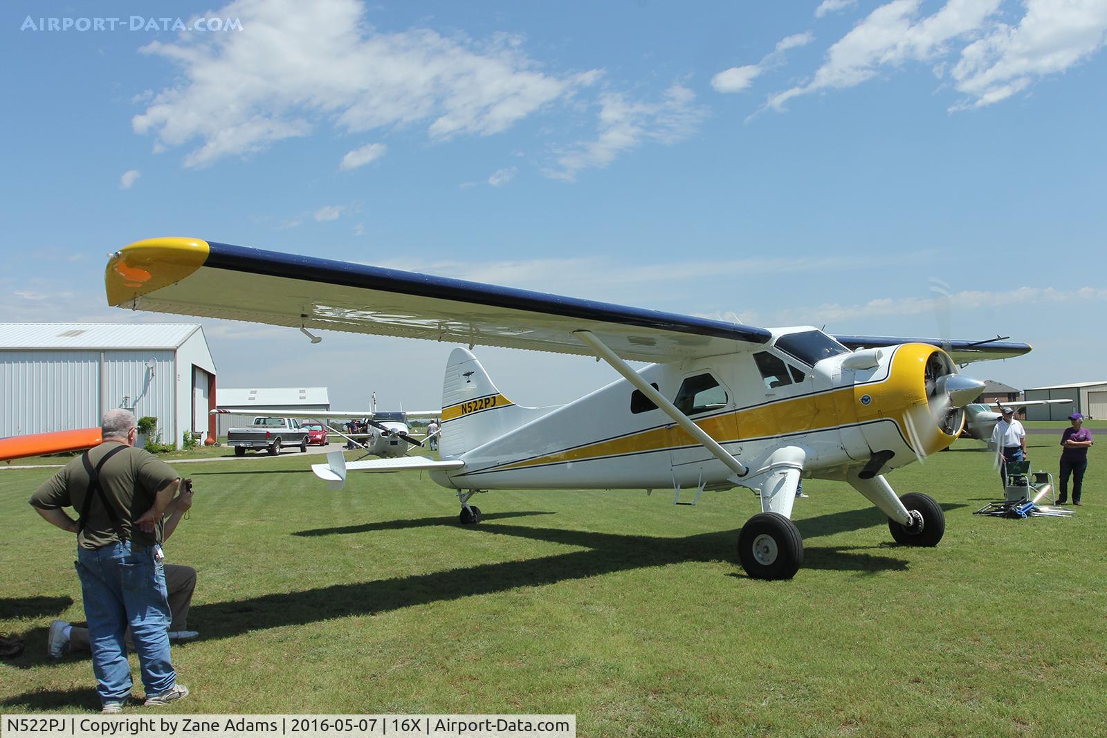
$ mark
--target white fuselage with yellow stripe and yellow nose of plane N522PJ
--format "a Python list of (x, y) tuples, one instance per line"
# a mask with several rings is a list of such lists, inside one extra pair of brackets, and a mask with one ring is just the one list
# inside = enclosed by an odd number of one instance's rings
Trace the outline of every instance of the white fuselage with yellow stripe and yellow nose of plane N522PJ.
[[(952, 443), (960, 418), (930, 402), (928, 382), (943, 372), (955, 372), (952, 362), (927, 344), (851, 353), (801, 328), (774, 331), (774, 341), (754, 351), (653, 364), (640, 375), (752, 471), (782, 446), (796, 446), (806, 456), (804, 476), (841, 479), (878, 451), (888, 470)], [(432, 477), (473, 489), (742, 485), (625, 380), (461, 458), (464, 469)]]

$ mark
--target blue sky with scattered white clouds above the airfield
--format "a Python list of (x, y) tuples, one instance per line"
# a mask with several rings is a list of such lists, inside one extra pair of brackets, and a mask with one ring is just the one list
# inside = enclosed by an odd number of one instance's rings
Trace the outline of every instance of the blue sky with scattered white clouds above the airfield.
[[(1035, 346), (974, 375), (1107, 377), (1107, 0), (149, 8), (0, 11), (6, 320), (159, 320), (106, 308), (106, 253), (192, 236), (755, 325), (948, 322)], [(224, 386), (346, 406), (435, 406), (448, 354), (205, 329)], [(478, 355), (525, 404), (614, 378)]]

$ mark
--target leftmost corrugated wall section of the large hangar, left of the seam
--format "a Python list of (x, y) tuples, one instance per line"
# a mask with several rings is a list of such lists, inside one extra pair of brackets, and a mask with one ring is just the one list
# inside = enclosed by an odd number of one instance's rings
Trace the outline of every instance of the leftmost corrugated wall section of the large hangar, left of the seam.
[(0, 351), (0, 436), (100, 425), (100, 353)]

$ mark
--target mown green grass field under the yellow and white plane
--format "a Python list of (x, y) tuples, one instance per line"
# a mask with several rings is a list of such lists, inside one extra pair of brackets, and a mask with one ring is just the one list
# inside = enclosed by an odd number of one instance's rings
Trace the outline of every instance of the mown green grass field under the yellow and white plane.
[[(1028, 441), (1056, 474), (1057, 438)], [(581, 736), (1103, 735), (1107, 450), (1076, 518), (1015, 521), (972, 514), (1001, 492), (976, 448), (889, 477), (942, 503), (937, 549), (892, 545), (846, 485), (805, 484), (789, 582), (737, 565), (748, 491), (692, 508), (660, 490), (490, 492), (462, 528), (417, 475), (328, 492), (298, 455), (190, 464), (168, 555), (199, 571), (201, 640), (174, 647), (193, 695), (173, 709), (573, 713)], [(99, 708), (87, 658), (45, 657), (50, 621), (83, 620), (72, 538), (27, 505), (50, 472), (0, 471), (0, 631), (28, 644), (0, 662), (6, 713)]]

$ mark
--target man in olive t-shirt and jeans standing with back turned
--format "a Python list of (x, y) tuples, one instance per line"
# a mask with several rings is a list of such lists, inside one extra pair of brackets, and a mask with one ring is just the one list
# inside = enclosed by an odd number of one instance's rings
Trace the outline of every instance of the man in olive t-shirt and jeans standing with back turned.
[[(118, 713), (132, 687), (124, 648), (128, 624), (146, 705), (165, 705), (188, 694), (177, 684), (169, 657), (169, 605), (157, 545), (158, 523), (180, 480), (153, 454), (134, 448), (135, 418), (130, 412), (110, 410), (101, 428), (104, 441), (66, 464), (35, 490), (30, 503), (51, 524), (77, 533), (75, 567), (96, 690), (103, 711)], [(91, 484), (93, 475), (100, 492)], [(80, 523), (62, 510), (65, 507), (81, 514)]]

